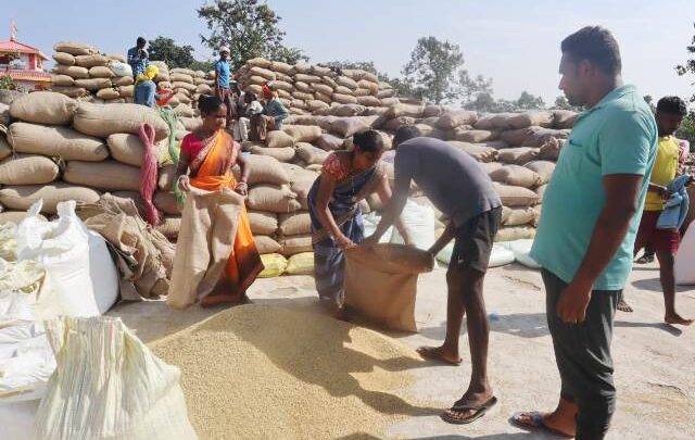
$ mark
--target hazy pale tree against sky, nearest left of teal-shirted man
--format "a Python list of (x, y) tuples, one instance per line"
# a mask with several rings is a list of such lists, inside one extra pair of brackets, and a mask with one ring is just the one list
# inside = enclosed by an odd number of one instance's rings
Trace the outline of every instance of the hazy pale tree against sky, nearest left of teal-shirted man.
[(463, 64), (458, 45), (424, 37), (417, 40), (403, 75), (415, 86), (418, 98), (440, 104), (458, 97), (456, 72)]

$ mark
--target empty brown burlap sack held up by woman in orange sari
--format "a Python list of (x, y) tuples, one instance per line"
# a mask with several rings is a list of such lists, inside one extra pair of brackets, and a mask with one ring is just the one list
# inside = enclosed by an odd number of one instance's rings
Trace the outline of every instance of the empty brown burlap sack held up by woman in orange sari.
[(167, 303), (186, 309), (213, 291), (235, 244), (243, 198), (231, 190), (192, 188), (176, 242)]

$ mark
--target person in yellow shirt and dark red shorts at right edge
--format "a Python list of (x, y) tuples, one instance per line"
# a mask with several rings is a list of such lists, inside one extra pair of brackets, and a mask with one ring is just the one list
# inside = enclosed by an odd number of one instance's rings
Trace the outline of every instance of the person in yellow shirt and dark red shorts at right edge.
[[(659, 278), (664, 289), (667, 324), (691, 325), (693, 319), (685, 319), (675, 312), (675, 278), (673, 275), (673, 256), (678, 252), (681, 235), (678, 229), (658, 229), (656, 227), (659, 215), (665, 208), (666, 200), (671, 196), (667, 186), (673, 180), (679, 169), (680, 146), (673, 137), (683, 117), (687, 114), (685, 102), (679, 97), (665, 97), (656, 106), (656, 123), (659, 129), (659, 146), (656, 162), (652, 169), (652, 178), (644, 212), (634, 242), (634, 254), (648, 247), (656, 252), (659, 261)], [(632, 312), (632, 307), (624, 301), (624, 296), (618, 303), (618, 310)]]

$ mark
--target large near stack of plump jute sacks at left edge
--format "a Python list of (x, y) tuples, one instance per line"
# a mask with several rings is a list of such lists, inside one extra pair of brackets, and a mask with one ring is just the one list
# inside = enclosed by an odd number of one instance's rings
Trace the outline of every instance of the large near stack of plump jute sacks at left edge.
[[(18, 221), (43, 200), (52, 216), (62, 201), (94, 203), (102, 192), (139, 196), (142, 123), (163, 141), (169, 129), (159, 113), (143, 105), (96, 104), (41, 91), (10, 105), (11, 124), (0, 135), (0, 223)], [(163, 147), (163, 146), (161, 146)]]

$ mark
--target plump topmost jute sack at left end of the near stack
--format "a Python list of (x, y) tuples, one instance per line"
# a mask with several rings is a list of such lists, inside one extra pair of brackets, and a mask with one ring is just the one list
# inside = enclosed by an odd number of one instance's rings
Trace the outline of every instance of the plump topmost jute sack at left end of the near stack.
[(77, 101), (53, 91), (37, 91), (15, 99), (10, 105), (12, 117), (47, 125), (70, 125)]

